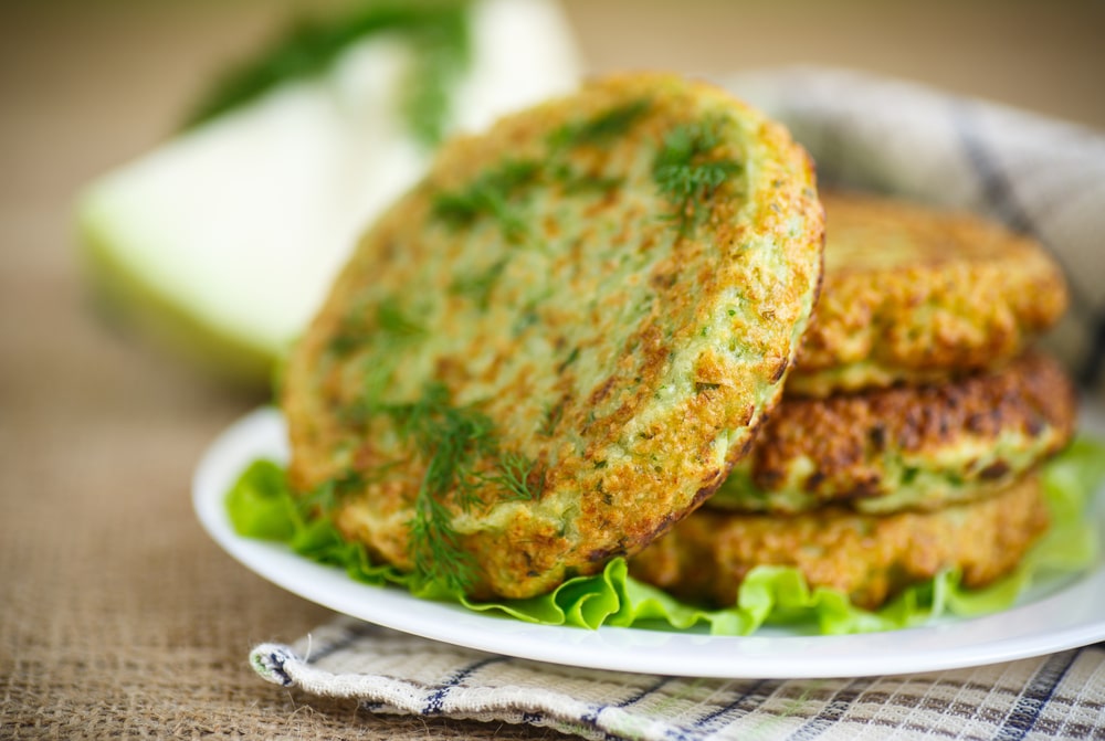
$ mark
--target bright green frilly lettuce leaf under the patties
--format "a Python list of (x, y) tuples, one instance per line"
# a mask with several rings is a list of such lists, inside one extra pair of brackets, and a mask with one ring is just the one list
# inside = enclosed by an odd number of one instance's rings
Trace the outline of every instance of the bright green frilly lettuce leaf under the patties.
[(539, 597), (473, 602), (424, 578), (373, 563), (362, 544), (347, 542), (329, 520), (314, 515), (318, 502), (293, 495), (277, 463), (251, 464), (225, 504), (240, 536), (285, 543), (313, 561), (345, 569), (359, 582), (397, 585), (418, 597), (455, 601), (473, 611), (528, 623), (695, 629), (713, 635), (749, 635), (764, 625), (785, 625), (801, 633), (850, 634), (912, 627), (945, 615), (997, 612), (1011, 606), (1034, 583), (1086, 569), (1098, 550), (1097, 529), (1086, 512), (1103, 479), (1105, 445), (1080, 437), (1044, 466), (1052, 525), (1013, 573), (986, 589), (968, 590), (958, 572), (945, 571), (875, 612), (856, 607), (839, 591), (811, 589), (792, 567), (758, 567), (740, 585), (735, 605), (703, 610), (632, 579), (624, 559)]

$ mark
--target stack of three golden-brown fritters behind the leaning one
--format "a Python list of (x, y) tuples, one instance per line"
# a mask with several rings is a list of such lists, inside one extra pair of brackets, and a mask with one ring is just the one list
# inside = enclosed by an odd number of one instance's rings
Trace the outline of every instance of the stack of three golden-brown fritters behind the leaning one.
[(945, 569), (1007, 574), (1048, 527), (1039, 464), (1073, 389), (1029, 348), (1066, 306), (1032, 241), (975, 216), (822, 193), (820, 303), (783, 402), (706, 506), (631, 562), (733, 604), (760, 564), (876, 607)]

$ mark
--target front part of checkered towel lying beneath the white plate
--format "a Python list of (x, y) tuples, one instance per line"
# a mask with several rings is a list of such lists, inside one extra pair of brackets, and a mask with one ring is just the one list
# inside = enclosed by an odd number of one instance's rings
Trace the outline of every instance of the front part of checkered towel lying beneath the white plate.
[(270, 681), (375, 712), (585, 739), (1105, 739), (1102, 645), (894, 677), (688, 679), (507, 658), (340, 617), (251, 660)]

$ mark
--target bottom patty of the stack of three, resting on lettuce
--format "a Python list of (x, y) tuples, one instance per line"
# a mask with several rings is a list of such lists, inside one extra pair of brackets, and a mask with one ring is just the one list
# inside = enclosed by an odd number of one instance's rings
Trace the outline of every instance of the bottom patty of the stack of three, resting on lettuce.
[(1035, 474), (978, 501), (933, 512), (860, 515), (827, 508), (793, 517), (701, 509), (630, 562), (630, 573), (672, 594), (718, 606), (757, 565), (797, 567), (811, 586), (866, 608), (945, 569), (985, 586), (1011, 571), (1046, 529)]

